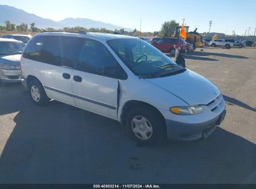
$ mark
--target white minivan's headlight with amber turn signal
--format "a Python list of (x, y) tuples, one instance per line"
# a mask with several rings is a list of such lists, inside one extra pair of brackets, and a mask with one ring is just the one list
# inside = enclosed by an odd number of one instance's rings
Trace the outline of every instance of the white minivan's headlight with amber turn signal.
[(170, 111), (171, 113), (174, 113), (174, 114), (198, 114), (198, 113), (202, 113), (202, 107), (199, 105), (171, 107)]

